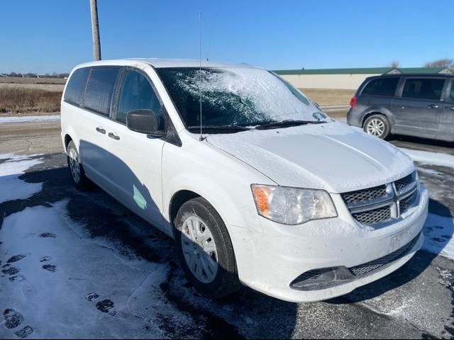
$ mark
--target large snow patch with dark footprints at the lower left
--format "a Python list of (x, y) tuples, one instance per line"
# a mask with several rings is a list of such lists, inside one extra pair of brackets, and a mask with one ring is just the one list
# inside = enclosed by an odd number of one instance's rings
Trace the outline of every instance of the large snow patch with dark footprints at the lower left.
[[(0, 305), (22, 315), (21, 327), (31, 327), (36, 339), (163, 338), (165, 318), (194, 327), (162, 294), (167, 264), (131, 258), (107, 239), (88, 238), (66, 206), (26, 208), (6, 217), (0, 229), (0, 261), (10, 262), (1, 268)], [(0, 327), (1, 338), (10, 336)]]

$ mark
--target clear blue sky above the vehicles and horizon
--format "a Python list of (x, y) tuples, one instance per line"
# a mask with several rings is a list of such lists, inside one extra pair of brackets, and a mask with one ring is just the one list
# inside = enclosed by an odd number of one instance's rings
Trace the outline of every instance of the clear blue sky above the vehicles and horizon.
[[(98, 0), (103, 59), (199, 58), (267, 69), (402, 67), (453, 57), (452, 0)], [(0, 72), (93, 60), (89, 0), (0, 0)]]

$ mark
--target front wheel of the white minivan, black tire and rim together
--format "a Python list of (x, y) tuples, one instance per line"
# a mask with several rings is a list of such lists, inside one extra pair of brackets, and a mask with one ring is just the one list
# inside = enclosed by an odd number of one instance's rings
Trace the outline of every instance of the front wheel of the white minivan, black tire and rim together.
[(201, 197), (188, 200), (178, 211), (175, 228), (179, 260), (196, 290), (221, 298), (240, 289), (231, 238), (212, 205)]

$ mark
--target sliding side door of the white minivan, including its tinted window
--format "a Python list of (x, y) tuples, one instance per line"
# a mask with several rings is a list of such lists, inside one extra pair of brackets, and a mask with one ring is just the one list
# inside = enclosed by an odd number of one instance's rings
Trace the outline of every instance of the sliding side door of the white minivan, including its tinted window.
[(109, 191), (108, 169), (111, 157), (108, 151), (107, 128), (111, 101), (120, 74), (120, 67), (93, 67), (88, 78), (83, 100), (83, 113), (78, 121), (82, 131), (79, 154), (87, 176)]

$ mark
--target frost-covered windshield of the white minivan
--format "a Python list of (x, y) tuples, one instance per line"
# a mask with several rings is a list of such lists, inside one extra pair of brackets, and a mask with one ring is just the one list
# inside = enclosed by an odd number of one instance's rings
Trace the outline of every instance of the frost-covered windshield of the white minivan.
[(282, 120), (328, 117), (299, 90), (265, 69), (157, 69), (188, 128), (255, 126)]

